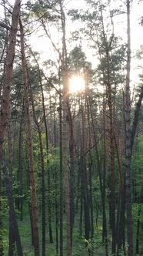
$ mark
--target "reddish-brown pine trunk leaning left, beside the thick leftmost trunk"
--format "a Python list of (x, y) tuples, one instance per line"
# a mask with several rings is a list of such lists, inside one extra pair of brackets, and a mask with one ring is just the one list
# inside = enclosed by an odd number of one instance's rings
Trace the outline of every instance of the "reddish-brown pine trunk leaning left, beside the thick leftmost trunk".
[(31, 116), (30, 116), (29, 98), (28, 98), (28, 76), (27, 76), (26, 61), (25, 61), (24, 30), (23, 30), (21, 19), (19, 19), (19, 25), (20, 25), (20, 32), (21, 32), (22, 70), (23, 70), (23, 82), (24, 82), (24, 91), (25, 91), (25, 118), (26, 118), (26, 125), (27, 125), (28, 159), (29, 159), (29, 172), (30, 172), (31, 197), (32, 197), (33, 238), (34, 238), (35, 256), (39, 256), (40, 250), (39, 250), (39, 239), (38, 239), (38, 211), (37, 211), (37, 197), (36, 197), (36, 186), (35, 186), (34, 153), (33, 153), (33, 147), (32, 147), (32, 125), (31, 125)]

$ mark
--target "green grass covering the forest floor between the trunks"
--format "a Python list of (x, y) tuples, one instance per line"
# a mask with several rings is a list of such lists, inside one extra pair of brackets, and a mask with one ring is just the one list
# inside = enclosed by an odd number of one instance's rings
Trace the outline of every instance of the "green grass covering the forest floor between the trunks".
[[(19, 220), (19, 214), (17, 213), (17, 220)], [(39, 240), (40, 240), (40, 251), (42, 254), (42, 220), (41, 217), (38, 218), (39, 221)], [(105, 248), (101, 244), (101, 220), (99, 217), (99, 224), (98, 227), (95, 227), (95, 237), (94, 237), (94, 248), (96, 256), (105, 256)], [(24, 221), (18, 221), (18, 228), (21, 236), (22, 241), (22, 248), (24, 256), (34, 256), (34, 250), (32, 247), (32, 237), (31, 237), (31, 226), (28, 214), (24, 214)], [(52, 223), (52, 230), (53, 230), (53, 238), (54, 243), (50, 244), (48, 239), (48, 225), (46, 226), (46, 256), (56, 256), (55, 251), (55, 223)], [(63, 224), (63, 235), (64, 235), (64, 256), (66, 256), (66, 224)], [(108, 238), (109, 243), (108, 247), (111, 248), (111, 231), (108, 227)], [(3, 217), (3, 239), (4, 239), (4, 247), (5, 247), (5, 256), (8, 255), (8, 211), (5, 211), (5, 216)], [(59, 240), (59, 229), (58, 229), (58, 240)], [(58, 241), (59, 242), (59, 241)], [(90, 244), (89, 244), (90, 246)], [(140, 248), (142, 249), (142, 248)], [(59, 248), (58, 248), (59, 250)], [(16, 256), (15, 252), (15, 256)], [(79, 235), (78, 231), (78, 218), (75, 219), (75, 227), (73, 233), (73, 244), (72, 244), (72, 256), (87, 256), (88, 249), (85, 248), (85, 239)], [(141, 255), (141, 254), (140, 254)], [(140, 256), (138, 254), (138, 256)], [(137, 255), (136, 255), (137, 256)]]

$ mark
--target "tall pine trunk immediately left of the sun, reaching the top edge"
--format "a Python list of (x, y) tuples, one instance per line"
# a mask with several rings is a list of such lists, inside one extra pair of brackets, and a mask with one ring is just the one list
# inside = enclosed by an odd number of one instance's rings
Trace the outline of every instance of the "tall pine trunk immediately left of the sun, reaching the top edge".
[[(62, 83), (63, 83), (63, 163), (65, 170), (65, 212), (67, 229), (67, 256), (71, 256), (71, 217), (70, 217), (70, 187), (68, 177), (68, 62), (65, 39), (65, 12), (62, 0), (59, 1), (62, 22)], [(67, 118), (68, 117), (68, 118)]]

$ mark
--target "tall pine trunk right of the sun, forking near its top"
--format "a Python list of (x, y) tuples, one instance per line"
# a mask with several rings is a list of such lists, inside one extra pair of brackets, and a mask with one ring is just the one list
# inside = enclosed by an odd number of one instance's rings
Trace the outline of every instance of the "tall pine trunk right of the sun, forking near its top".
[[(110, 70), (110, 48), (114, 38), (114, 32), (111, 35), (111, 39), (108, 42), (107, 36), (105, 35), (105, 25), (103, 15), (101, 11), (101, 23), (102, 33), (105, 44), (105, 61), (106, 61), (106, 72), (103, 70), (104, 82), (106, 85), (106, 96), (108, 100), (108, 112), (109, 112), (109, 134), (110, 134), (110, 172), (111, 172), (111, 195), (110, 195), (110, 224), (112, 233), (112, 244), (111, 253), (115, 255), (116, 250), (116, 229), (115, 229), (115, 140), (114, 140), (114, 105), (112, 99), (112, 88), (111, 88), (111, 70)], [(112, 19), (111, 24), (113, 25)]]

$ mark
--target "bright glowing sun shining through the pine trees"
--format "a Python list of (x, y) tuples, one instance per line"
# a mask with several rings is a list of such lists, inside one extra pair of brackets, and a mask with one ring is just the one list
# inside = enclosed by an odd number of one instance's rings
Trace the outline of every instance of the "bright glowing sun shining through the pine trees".
[(69, 93), (79, 93), (85, 90), (85, 80), (82, 76), (71, 76), (69, 79)]

